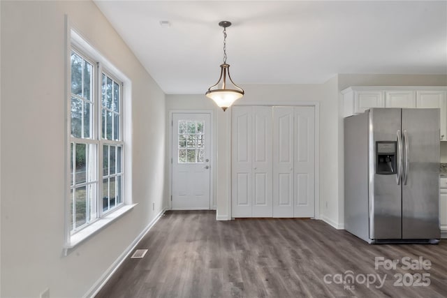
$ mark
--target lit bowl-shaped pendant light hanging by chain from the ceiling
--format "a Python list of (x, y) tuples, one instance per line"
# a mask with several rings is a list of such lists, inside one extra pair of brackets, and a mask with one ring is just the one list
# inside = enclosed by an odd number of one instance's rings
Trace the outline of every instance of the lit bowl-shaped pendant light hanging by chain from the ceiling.
[[(219, 81), (208, 89), (205, 95), (214, 100), (225, 112), (235, 100), (244, 96), (244, 90), (237, 86), (230, 77), (230, 64), (226, 64), (226, 28), (231, 26), (228, 21), (219, 22), (219, 26), (223, 27), (223, 64), (221, 64), (221, 76)], [(229, 82), (233, 84), (228, 88), (227, 77)]]

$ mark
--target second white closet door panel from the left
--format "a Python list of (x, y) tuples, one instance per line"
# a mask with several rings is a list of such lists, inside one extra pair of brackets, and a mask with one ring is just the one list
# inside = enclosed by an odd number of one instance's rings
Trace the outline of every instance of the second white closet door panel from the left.
[(252, 107), (253, 217), (272, 217), (272, 107)]

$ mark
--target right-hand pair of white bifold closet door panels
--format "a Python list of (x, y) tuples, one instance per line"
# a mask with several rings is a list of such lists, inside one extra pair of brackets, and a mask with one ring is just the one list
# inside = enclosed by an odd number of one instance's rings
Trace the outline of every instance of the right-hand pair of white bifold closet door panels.
[(314, 107), (273, 107), (273, 216), (315, 216)]

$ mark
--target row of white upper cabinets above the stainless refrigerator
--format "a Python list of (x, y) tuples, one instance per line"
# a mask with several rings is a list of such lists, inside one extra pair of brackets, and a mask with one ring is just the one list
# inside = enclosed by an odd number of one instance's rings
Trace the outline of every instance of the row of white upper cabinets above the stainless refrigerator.
[(439, 137), (447, 141), (447, 87), (349, 87), (342, 96), (344, 117), (372, 107), (439, 108)]

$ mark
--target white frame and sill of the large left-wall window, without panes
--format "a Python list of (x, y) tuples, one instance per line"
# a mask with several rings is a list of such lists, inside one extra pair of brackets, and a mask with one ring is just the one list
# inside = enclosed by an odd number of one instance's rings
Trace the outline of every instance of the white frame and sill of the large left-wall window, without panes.
[[(91, 101), (93, 101), (91, 112), (93, 121), (91, 121), (91, 136), (89, 139), (72, 137), (71, 135), (71, 52), (72, 50), (78, 54), (82, 59), (88, 61), (92, 67), (92, 73), (94, 73), (92, 80), (91, 91)], [(109, 225), (112, 221), (123, 216), (128, 211), (133, 209), (136, 204), (133, 204), (131, 198), (131, 80), (129, 80), (124, 73), (122, 73), (118, 68), (111, 64), (103, 54), (98, 52), (91, 44), (83, 38), (78, 31), (71, 27), (71, 24), (66, 18), (66, 59), (65, 59), (66, 77), (65, 77), (65, 100), (64, 100), (64, 110), (66, 112), (66, 126), (65, 126), (65, 195), (64, 195), (64, 225), (65, 225), (65, 236), (64, 236), (64, 251), (65, 255), (71, 248), (74, 248), (82, 241), (85, 241), (93, 234), (101, 230), (105, 226)], [(105, 140), (102, 138), (102, 119), (101, 112), (103, 111), (103, 103), (101, 98), (101, 78), (103, 73), (112, 78), (114, 82), (119, 84), (119, 140)], [(129, 100), (129, 102), (128, 102)], [(83, 121), (83, 120), (82, 120)], [(83, 126), (82, 126), (82, 129)], [(71, 163), (73, 162), (73, 173), (75, 173), (75, 161), (73, 161), (73, 156), (71, 152), (72, 142), (76, 144), (94, 144), (96, 146), (95, 153), (95, 174), (96, 177), (93, 179), (96, 184), (96, 218), (91, 218), (88, 224), (82, 225), (79, 228), (75, 228), (73, 231), (71, 229), (71, 224), (73, 223), (74, 216), (71, 216), (71, 202), (73, 197), (71, 197), (71, 189), (75, 189), (77, 184), (74, 184), (75, 180), (71, 180)], [(121, 172), (117, 173), (115, 171), (115, 177), (121, 176), (121, 198), (119, 204), (116, 204), (117, 196), (115, 195), (115, 206), (103, 211), (103, 145), (107, 144), (110, 146), (121, 147)], [(117, 149), (118, 150), (118, 149)], [(115, 159), (118, 161), (119, 158), (116, 156)], [(116, 165), (115, 165), (116, 167)], [(117, 179), (117, 178), (115, 178)], [(116, 185), (116, 184), (115, 184)], [(115, 186), (117, 189), (117, 186)]]

